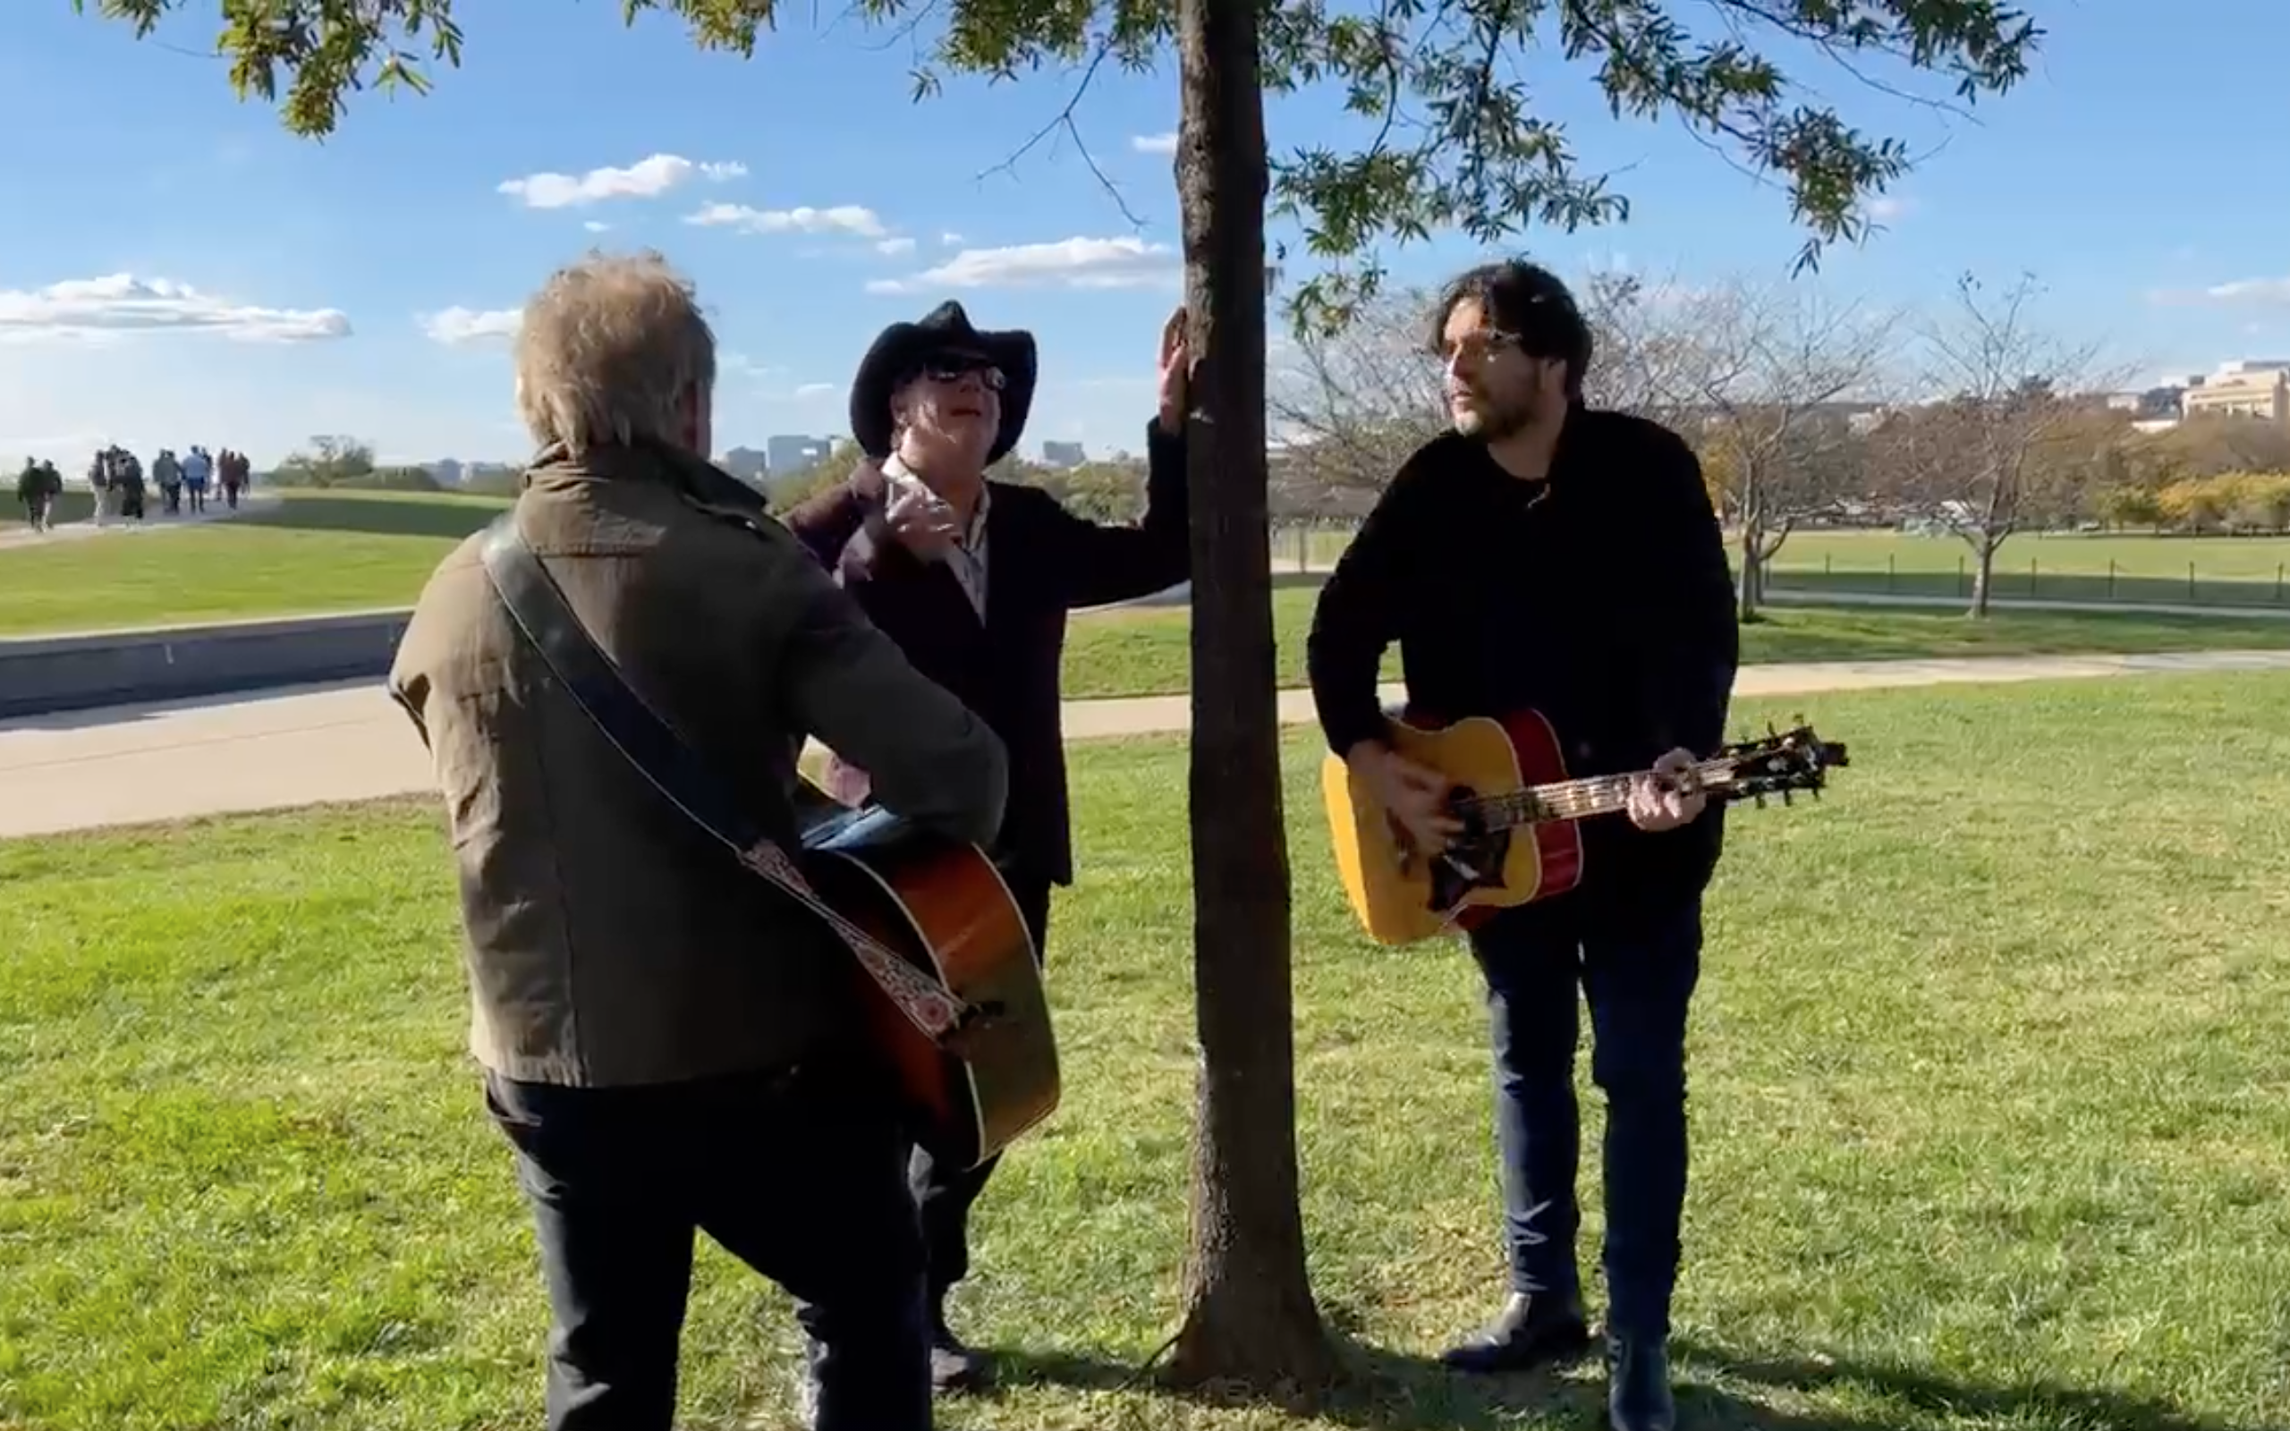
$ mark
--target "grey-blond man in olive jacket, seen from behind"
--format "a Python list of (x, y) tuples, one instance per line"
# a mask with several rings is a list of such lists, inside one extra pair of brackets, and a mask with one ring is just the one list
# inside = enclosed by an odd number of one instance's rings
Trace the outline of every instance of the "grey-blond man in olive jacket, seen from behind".
[[(712, 387), (714, 337), (657, 256), (556, 272), (518, 337), (543, 446), (524, 540), (783, 847), (806, 735), (861, 756), (886, 808), (989, 840), (1001, 742), (698, 456)], [(431, 577), (389, 687), (444, 794), (469, 1046), (538, 1225), (547, 1424), (669, 1431), (705, 1230), (802, 1300), (820, 1431), (930, 1426), (923, 1243), (866, 975), (591, 726), (481, 540)]]

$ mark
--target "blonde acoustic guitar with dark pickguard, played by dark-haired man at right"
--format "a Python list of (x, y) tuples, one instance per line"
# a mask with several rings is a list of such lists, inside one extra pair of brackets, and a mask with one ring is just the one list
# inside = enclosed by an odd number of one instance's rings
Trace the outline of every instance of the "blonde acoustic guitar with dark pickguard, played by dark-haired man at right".
[[(1392, 714), (1392, 749), (1452, 781), (1450, 811), (1463, 833), (1424, 856), (1340, 758), (1321, 767), (1335, 868), (1360, 927), (1379, 943), (1415, 943), (1472, 930), (1498, 909), (1548, 900), (1582, 881), (1582, 820), (1628, 808), (1637, 772), (1573, 778), (1539, 712), (1450, 724)], [(1846, 746), (1809, 726), (1722, 746), (1692, 778), (1713, 801), (1798, 790), (1821, 794)]]

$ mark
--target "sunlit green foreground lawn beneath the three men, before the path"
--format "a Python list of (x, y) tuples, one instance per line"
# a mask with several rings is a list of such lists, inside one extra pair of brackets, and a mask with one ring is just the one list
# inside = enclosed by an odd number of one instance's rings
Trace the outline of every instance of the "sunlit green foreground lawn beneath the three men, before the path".
[[(1688, 1424), (2290, 1424), (2290, 678), (1809, 714), (1853, 769), (1740, 811), (1711, 904)], [(941, 1424), (1592, 1424), (1589, 1367), (1427, 1365), (1502, 1275), (1479, 991), (1452, 946), (1353, 936), (1314, 758), (1289, 744), (1305, 1225), (1369, 1376), (1319, 1420), (1118, 1385), (1175, 1307), (1191, 911), (1182, 749), (1106, 744), (1053, 920), (1067, 1101), (985, 1195), (957, 1305), (1005, 1390)], [(7, 843), (0, 888), (0, 1426), (536, 1424), (545, 1307), (460, 1053), (435, 811)], [(785, 1426), (792, 1346), (705, 1248), (680, 1424)]]

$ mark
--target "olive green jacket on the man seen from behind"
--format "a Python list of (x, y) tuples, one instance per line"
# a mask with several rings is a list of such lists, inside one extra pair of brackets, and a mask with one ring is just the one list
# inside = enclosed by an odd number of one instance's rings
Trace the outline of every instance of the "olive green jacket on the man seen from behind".
[[(749, 488), (666, 446), (547, 451), (518, 522), (630, 685), (783, 845), (811, 735), (861, 758), (886, 808), (994, 838), (1001, 742)], [(389, 673), (444, 794), (476, 1060), (632, 1085), (850, 1051), (850, 950), (605, 742), (502, 609), (481, 540), (435, 570)]]

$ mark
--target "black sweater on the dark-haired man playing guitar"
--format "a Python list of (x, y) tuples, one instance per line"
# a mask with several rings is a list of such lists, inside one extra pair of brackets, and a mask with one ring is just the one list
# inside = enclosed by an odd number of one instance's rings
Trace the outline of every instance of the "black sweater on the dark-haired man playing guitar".
[[(1724, 740), (1740, 659), (1724, 538), (1692, 449), (1576, 405), (1546, 483), (1447, 433), (1392, 479), (1321, 588), (1312, 701), (1328, 746), (1381, 737), (1376, 671), (1399, 643), (1408, 707), (1438, 721), (1539, 710), (1571, 774), (1642, 769)], [(1647, 836), (1585, 827), (1585, 893), (1699, 888), (1722, 815)]]

